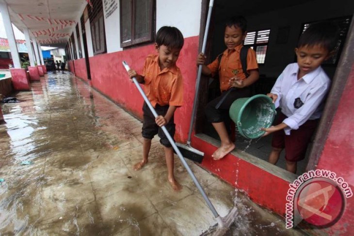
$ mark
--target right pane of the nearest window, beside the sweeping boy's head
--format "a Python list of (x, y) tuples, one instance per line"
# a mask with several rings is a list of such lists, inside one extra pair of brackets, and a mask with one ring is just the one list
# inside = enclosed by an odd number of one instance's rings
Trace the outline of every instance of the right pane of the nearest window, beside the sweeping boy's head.
[(136, 0), (135, 4), (135, 39), (149, 36), (150, 1)]

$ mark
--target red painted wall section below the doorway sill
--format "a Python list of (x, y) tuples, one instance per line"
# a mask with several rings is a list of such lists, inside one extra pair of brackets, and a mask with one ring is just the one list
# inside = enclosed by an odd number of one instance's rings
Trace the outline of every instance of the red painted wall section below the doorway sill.
[(244, 190), (254, 202), (285, 215), (289, 182), (231, 154), (215, 161), (211, 155), (217, 147), (196, 137), (192, 137), (192, 146), (204, 152), (204, 168)]

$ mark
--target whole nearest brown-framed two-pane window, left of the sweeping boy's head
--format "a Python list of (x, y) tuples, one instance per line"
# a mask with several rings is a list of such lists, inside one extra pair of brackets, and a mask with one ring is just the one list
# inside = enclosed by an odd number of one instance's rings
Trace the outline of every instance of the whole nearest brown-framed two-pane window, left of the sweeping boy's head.
[(151, 42), (155, 34), (155, 0), (120, 0), (121, 47)]

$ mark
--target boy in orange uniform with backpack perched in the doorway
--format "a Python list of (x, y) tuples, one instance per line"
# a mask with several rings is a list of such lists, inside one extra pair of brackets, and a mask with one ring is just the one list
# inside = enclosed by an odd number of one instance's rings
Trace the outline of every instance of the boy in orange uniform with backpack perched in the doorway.
[[(243, 16), (231, 18), (225, 27), (224, 41), (227, 48), (220, 63), (216, 58), (209, 65), (205, 65), (206, 57), (203, 53), (200, 53), (197, 58), (197, 65), (203, 65), (202, 73), (204, 75), (214, 77), (218, 73), (220, 79), (221, 95), (210, 101), (205, 109), (207, 120), (214, 126), (221, 140), (221, 146), (212, 154), (214, 160), (225, 157), (235, 148), (225, 127), (228, 110), (236, 99), (251, 95), (250, 85), (259, 78), (256, 52), (251, 48), (247, 51), (247, 69), (246, 71), (242, 70), (240, 52), (243, 47), (242, 41), (247, 34), (246, 28), (247, 22)], [(217, 107), (231, 87), (233, 87), (232, 91), (225, 97), (220, 107)]]

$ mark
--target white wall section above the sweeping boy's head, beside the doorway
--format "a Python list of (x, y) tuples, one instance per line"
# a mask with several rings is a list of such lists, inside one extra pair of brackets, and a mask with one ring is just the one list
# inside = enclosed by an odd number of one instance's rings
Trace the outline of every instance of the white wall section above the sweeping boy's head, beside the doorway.
[(156, 31), (177, 27), (184, 38), (199, 35), (202, 0), (156, 0)]

